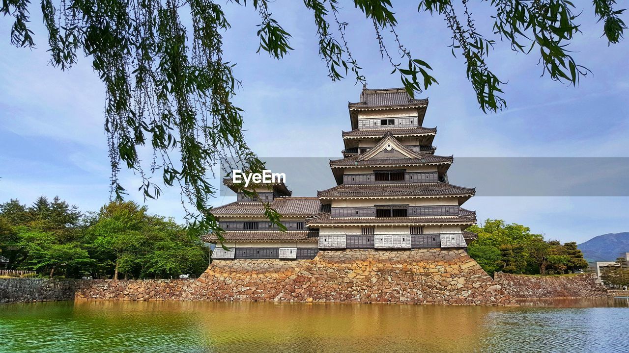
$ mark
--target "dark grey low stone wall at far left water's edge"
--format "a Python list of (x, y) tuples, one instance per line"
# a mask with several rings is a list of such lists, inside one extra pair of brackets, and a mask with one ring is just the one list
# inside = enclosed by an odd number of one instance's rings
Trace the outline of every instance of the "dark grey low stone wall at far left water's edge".
[(0, 303), (74, 299), (73, 280), (0, 278)]

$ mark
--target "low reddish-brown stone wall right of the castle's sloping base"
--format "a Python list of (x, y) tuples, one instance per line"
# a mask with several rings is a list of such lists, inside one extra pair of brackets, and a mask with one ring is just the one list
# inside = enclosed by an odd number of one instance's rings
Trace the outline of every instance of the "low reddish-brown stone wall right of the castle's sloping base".
[(595, 274), (527, 276), (496, 272), (494, 280), (513, 298), (592, 298), (607, 296)]

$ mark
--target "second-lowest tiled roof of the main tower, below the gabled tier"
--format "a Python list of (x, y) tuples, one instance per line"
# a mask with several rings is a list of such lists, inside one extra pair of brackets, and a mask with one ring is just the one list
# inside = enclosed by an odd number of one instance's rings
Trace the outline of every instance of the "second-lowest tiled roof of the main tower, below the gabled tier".
[(399, 183), (386, 185), (345, 185), (317, 192), (321, 198), (471, 196), (476, 190), (447, 183)]

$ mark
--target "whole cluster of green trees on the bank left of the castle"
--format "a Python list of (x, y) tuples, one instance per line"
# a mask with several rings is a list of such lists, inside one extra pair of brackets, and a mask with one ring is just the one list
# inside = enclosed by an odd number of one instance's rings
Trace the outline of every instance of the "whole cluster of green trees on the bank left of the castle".
[(135, 202), (111, 202), (82, 214), (58, 197), (0, 204), (0, 256), (9, 269), (46, 276), (118, 279), (198, 276), (209, 249), (172, 219)]

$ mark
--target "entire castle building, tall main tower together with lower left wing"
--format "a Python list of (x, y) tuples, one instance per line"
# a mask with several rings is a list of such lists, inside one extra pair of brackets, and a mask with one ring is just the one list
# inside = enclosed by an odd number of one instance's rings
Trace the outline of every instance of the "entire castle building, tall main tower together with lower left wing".
[[(424, 128), (427, 99), (404, 89), (363, 89), (349, 104), (352, 131), (343, 158), (331, 160), (337, 186), (317, 197), (292, 197), (282, 183), (257, 190), (259, 199), (213, 209), (230, 251), (214, 259), (311, 259), (326, 249), (462, 248), (476, 213), (461, 207), (473, 188), (448, 182), (452, 156), (435, 155), (436, 128)], [(230, 180), (226, 180), (230, 186)], [(264, 217), (270, 202), (287, 227)], [(209, 241), (216, 241), (211, 237)]]

